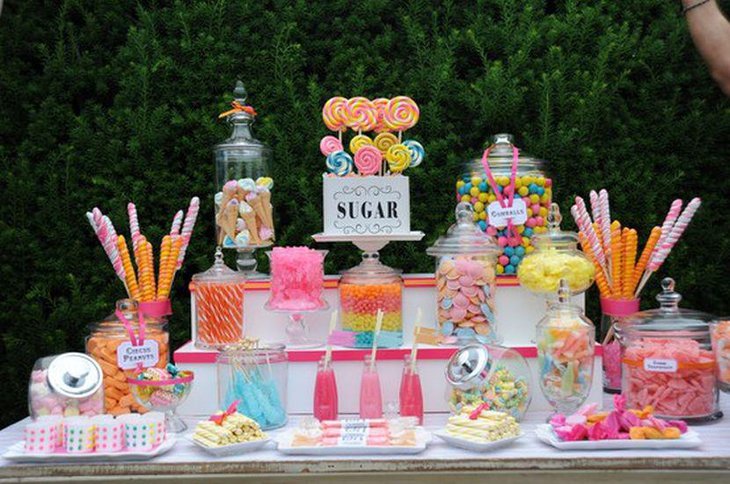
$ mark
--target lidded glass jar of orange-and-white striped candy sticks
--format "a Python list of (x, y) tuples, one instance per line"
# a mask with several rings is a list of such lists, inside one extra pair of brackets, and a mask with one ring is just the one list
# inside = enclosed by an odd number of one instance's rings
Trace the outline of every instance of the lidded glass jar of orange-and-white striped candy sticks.
[(195, 307), (193, 343), (198, 348), (220, 349), (243, 339), (243, 297), (246, 276), (223, 263), (218, 247), (213, 266), (192, 279)]

